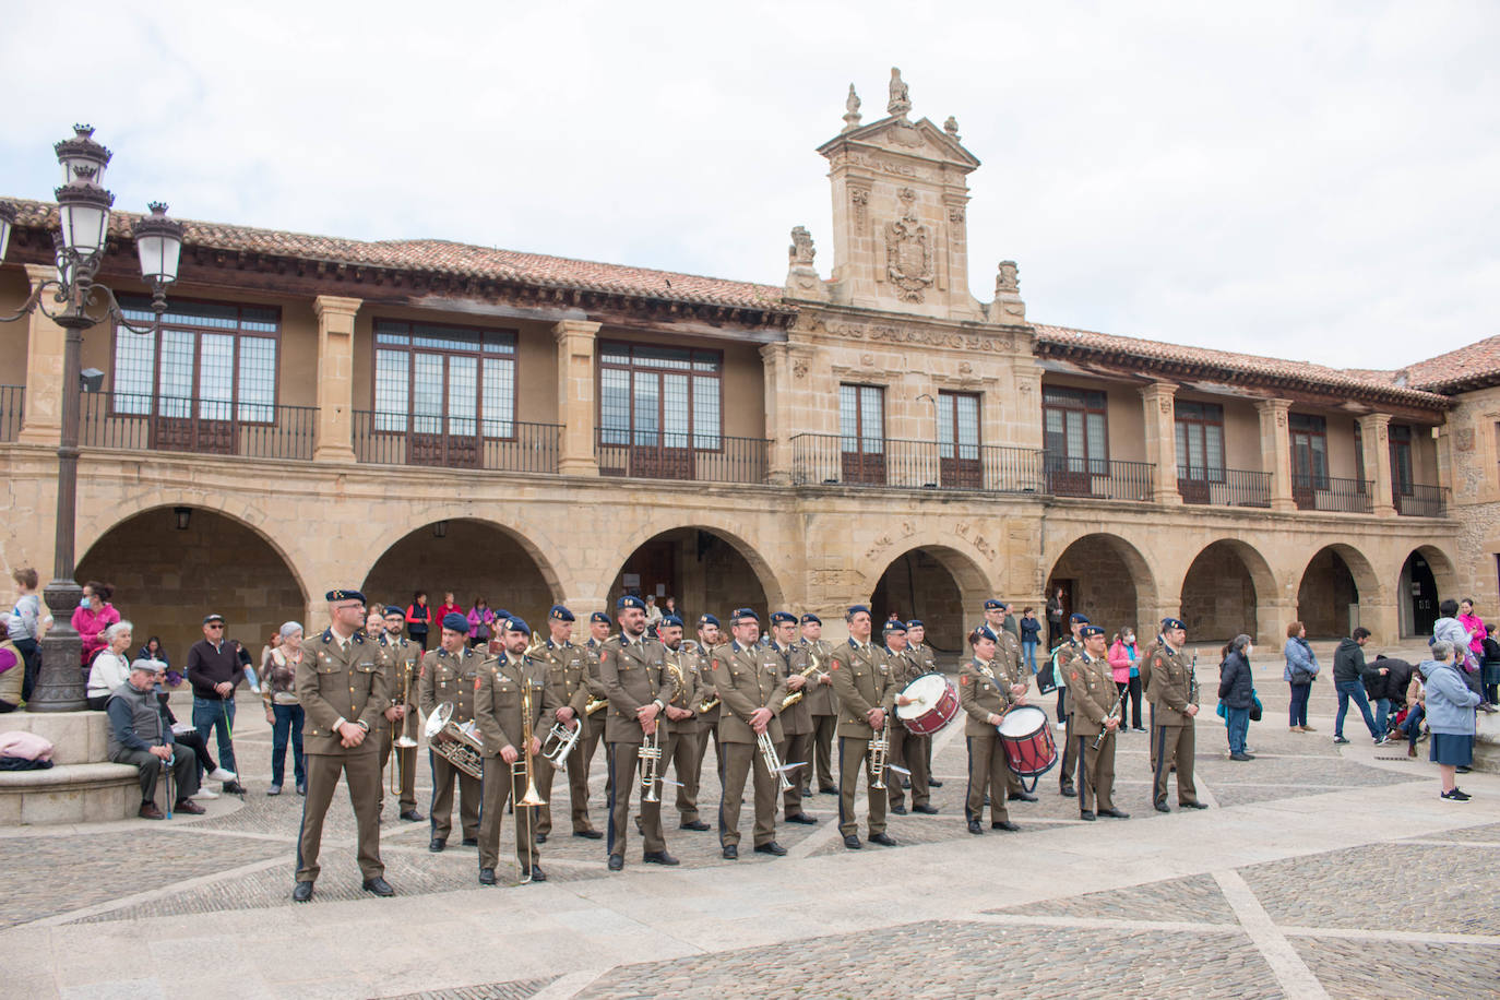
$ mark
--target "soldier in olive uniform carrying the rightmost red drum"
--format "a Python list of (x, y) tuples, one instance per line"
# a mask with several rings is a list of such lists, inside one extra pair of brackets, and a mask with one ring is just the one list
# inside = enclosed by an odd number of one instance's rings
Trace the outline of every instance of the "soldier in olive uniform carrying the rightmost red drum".
[(1005, 808), (1006, 781), (1011, 774), (996, 726), (1012, 705), (1024, 705), (1026, 696), (1016, 694), (1010, 681), (996, 670), (994, 652), (999, 636), (988, 625), (980, 625), (969, 636), (974, 658), (958, 670), (958, 705), (964, 742), (969, 745), (969, 789), (963, 799), (963, 816), (970, 834), (984, 834), (984, 798), (990, 798), (990, 829), (1017, 831)]

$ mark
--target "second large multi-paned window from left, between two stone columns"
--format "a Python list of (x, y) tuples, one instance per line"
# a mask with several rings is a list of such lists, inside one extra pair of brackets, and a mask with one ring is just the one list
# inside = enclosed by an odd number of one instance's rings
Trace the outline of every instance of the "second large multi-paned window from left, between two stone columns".
[(516, 331), (375, 319), (375, 430), (516, 436)]

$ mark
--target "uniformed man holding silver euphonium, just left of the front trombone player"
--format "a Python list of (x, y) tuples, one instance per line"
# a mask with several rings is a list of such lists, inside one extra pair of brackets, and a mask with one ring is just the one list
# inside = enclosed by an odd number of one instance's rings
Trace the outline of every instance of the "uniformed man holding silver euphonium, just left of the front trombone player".
[[(423, 718), (430, 718), (440, 705), (453, 705), (448, 718), (454, 726), (474, 721), (474, 688), (484, 654), (468, 645), (468, 618), (458, 612), (442, 616), (442, 634), (436, 649), (422, 657), (418, 703)], [(441, 733), (435, 739), (446, 739)], [(428, 750), (432, 763), (432, 840), (428, 850), (436, 853), (448, 846), (453, 831), (453, 778), (459, 781), (459, 823), (464, 846), (478, 846), (478, 810), (483, 787), (480, 780), (459, 771), (447, 757)]]

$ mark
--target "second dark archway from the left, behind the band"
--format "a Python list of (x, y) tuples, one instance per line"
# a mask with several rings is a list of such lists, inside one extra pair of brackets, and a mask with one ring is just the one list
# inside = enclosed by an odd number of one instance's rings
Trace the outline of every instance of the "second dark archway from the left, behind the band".
[[(507, 610), (542, 625), (556, 603), (550, 574), (510, 531), (484, 520), (458, 519), (423, 525), (387, 549), (364, 574), (364, 597), (405, 607), (418, 589), (432, 607), (453, 592), (465, 612), (483, 597), (495, 610)], [(434, 627), (429, 645), (436, 645)]]

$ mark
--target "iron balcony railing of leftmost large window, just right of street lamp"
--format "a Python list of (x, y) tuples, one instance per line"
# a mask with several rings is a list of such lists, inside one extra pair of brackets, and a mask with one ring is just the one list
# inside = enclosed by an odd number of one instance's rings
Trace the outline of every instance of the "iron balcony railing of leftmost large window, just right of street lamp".
[(306, 462), (312, 459), (316, 424), (316, 406), (84, 393), (78, 442), (86, 448)]

